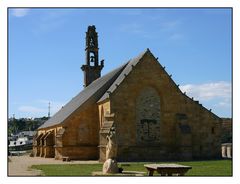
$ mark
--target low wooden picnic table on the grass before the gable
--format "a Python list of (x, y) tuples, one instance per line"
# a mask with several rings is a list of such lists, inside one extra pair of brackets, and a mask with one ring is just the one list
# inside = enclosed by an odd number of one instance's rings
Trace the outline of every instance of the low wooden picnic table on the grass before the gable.
[(192, 169), (190, 166), (179, 164), (146, 164), (144, 165), (148, 170), (148, 176), (153, 176), (154, 171), (157, 171), (161, 176), (184, 176), (184, 174)]

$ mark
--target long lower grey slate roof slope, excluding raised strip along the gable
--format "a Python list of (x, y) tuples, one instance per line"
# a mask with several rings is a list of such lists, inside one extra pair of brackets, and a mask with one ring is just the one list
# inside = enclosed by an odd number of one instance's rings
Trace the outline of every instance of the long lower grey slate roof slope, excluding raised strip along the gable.
[(83, 106), (85, 102), (89, 100), (92, 100), (93, 103), (96, 103), (99, 98), (106, 92), (109, 86), (116, 80), (126, 65), (127, 63), (93, 81), (38, 129), (62, 123), (74, 111)]

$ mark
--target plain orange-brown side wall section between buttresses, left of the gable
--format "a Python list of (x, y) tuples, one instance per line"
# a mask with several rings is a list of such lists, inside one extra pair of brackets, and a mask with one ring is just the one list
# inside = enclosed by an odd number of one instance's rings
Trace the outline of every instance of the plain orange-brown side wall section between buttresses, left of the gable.
[(86, 105), (64, 122), (63, 156), (70, 159), (98, 159), (98, 107)]

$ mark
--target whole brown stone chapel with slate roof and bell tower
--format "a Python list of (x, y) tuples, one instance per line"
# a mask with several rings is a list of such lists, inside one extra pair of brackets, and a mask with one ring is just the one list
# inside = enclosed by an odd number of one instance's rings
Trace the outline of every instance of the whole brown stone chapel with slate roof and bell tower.
[(183, 93), (149, 49), (104, 76), (98, 51), (89, 26), (85, 88), (38, 128), (34, 156), (105, 161), (112, 128), (117, 161), (221, 156), (221, 118)]

